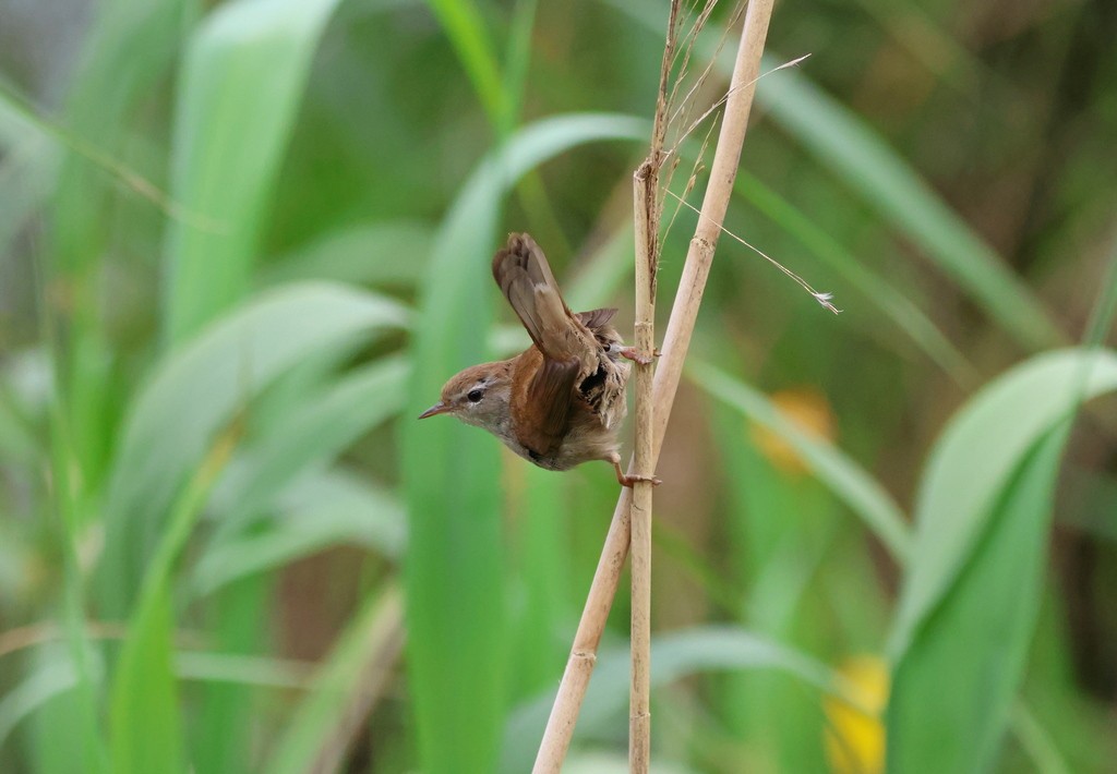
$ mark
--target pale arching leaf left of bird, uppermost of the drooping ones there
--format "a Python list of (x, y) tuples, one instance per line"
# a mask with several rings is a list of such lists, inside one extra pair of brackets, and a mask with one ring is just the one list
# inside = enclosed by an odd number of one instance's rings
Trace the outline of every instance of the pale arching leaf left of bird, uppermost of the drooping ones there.
[(114, 464), (101, 563), (105, 610), (125, 614), (187, 472), (238, 410), (306, 357), (407, 310), (371, 293), (303, 284), (261, 295), (164, 360), (133, 404)]

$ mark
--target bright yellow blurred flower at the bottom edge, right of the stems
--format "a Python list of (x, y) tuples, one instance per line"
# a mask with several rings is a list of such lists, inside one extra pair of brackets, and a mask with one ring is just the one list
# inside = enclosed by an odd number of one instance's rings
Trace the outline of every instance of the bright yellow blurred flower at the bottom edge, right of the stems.
[(829, 720), (825, 742), (830, 768), (839, 774), (879, 774), (885, 770), (880, 715), (888, 701), (888, 667), (879, 657), (855, 656), (844, 660), (838, 671), (849, 681), (860, 707), (837, 698), (823, 701)]

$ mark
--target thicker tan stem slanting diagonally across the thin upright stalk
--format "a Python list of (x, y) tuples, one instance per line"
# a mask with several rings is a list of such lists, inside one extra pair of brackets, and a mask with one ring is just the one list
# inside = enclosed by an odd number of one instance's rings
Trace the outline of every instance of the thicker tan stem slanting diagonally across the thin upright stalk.
[[(755, 82), (760, 75), (761, 54), (772, 18), (774, 0), (751, 0), (741, 31), (741, 46), (734, 65), (726, 102), (725, 118), (718, 135), (717, 149), (710, 164), (709, 184), (703, 200), (701, 214), (695, 236), (687, 250), (682, 278), (671, 307), (671, 317), (663, 337), (662, 357), (656, 369), (652, 396), (656, 405), (652, 419), (652, 462), (658, 460), (670, 418), (671, 404), (682, 376), (682, 364), (690, 345), (695, 319), (701, 304), (709, 267), (714, 259), (714, 248), (720, 236), (722, 222), (729, 206), (733, 183), (741, 162), (741, 147), (748, 125), (748, 113), (753, 104)], [(631, 470), (631, 472), (637, 472)], [(558, 774), (562, 762), (574, 735), (582, 699), (590, 684), (590, 675), (596, 660), (598, 646), (604, 631), (609, 610), (620, 581), (621, 568), (628, 557), (630, 541), (630, 509), (632, 490), (624, 488), (613, 510), (613, 520), (605, 535), (605, 544), (593, 576), (593, 584), (582, 611), (574, 646), (571, 649), (566, 671), (558, 686), (558, 695), (551, 709), (543, 742), (535, 758), (535, 774)]]

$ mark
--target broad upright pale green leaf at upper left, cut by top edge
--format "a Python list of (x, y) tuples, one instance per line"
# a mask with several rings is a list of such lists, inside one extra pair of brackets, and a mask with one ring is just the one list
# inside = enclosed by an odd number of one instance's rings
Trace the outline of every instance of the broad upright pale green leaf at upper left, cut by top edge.
[(318, 37), (337, 0), (237, 0), (190, 42), (172, 152), (166, 333), (181, 342), (249, 290), (260, 224)]

